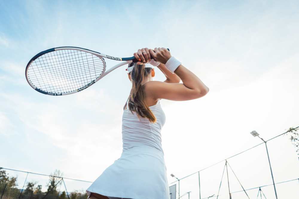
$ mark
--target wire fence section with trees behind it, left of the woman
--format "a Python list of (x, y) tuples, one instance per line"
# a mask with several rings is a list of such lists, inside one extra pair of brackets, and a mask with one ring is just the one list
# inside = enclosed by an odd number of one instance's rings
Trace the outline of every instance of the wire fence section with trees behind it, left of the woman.
[[(8, 174), (8, 172), (10, 172)], [(0, 168), (0, 199), (86, 199), (92, 182)], [(60, 173), (58, 173), (60, 174)], [(17, 177), (13, 177), (17, 176)], [(24, 184), (19, 182), (23, 181)], [(68, 190), (67, 187), (71, 187)]]

